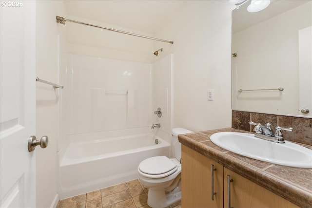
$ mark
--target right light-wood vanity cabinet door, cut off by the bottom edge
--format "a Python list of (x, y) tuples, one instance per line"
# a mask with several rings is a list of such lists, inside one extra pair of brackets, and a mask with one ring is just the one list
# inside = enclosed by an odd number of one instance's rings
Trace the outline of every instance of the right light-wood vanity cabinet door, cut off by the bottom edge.
[[(228, 201), (228, 175), (230, 179), (230, 206)], [(224, 208), (299, 208), (268, 189), (224, 168)]]

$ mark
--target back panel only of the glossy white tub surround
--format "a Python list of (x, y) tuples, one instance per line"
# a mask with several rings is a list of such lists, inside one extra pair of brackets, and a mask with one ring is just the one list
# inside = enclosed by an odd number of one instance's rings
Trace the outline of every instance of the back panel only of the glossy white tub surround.
[(72, 134), (152, 124), (151, 64), (78, 55), (67, 62), (61, 145)]

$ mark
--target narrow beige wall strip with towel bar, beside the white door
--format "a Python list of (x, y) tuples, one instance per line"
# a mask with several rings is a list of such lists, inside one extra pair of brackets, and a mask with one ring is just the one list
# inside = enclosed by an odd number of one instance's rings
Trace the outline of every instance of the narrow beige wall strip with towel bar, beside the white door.
[[(64, 15), (63, 1), (36, 1), (36, 76), (59, 83), (59, 50), (65, 50), (63, 33), (56, 23)], [(59, 40), (63, 41), (59, 44)], [(59, 48), (60, 45), (60, 48)], [(35, 77), (34, 77), (35, 78)], [(60, 83), (62, 84), (62, 83)], [(61, 89), (36, 83), (36, 135), (49, 137), (46, 149), (36, 148), (36, 207), (55, 207), (57, 195), (57, 141), (59, 136), (58, 105)]]

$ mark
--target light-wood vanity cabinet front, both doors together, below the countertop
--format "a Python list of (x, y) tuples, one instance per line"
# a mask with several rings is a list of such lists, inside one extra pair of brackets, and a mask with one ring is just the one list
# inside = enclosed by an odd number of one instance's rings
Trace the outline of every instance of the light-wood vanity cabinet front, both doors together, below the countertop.
[[(215, 169), (214, 200), (211, 195), (212, 165)], [(181, 204), (182, 208), (299, 208), (184, 145), (182, 145)]]

